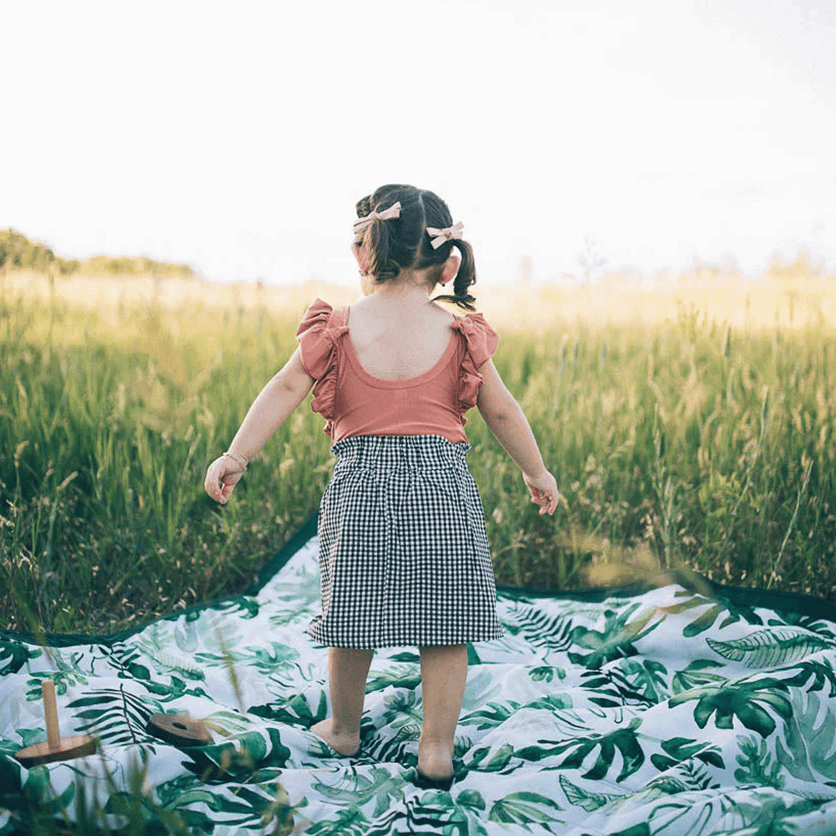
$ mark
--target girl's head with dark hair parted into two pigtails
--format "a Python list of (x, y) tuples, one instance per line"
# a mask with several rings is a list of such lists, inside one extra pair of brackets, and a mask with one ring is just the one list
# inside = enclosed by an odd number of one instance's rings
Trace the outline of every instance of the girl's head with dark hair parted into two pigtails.
[(450, 261), (455, 248), (461, 254), (461, 264), (453, 283), (453, 295), (436, 298), (472, 311), (476, 299), (467, 288), (476, 282), (476, 267), (470, 244), (452, 239), (436, 248), (426, 231), (427, 227), (446, 229), (453, 225), (447, 204), (433, 192), (415, 186), (380, 186), (373, 194), (357, 201), (357, 217), (384, 212), (395, 203), (400, 203), (399, 217), (375, 219), (354, 236), (354, 251), (363, 265), (363, 273), (380, 283), (394, 279), (402, 270), (426, 270), (435, 287), (442, 280), (442, 273), (446, 278), (455, 269), (451, 268)]

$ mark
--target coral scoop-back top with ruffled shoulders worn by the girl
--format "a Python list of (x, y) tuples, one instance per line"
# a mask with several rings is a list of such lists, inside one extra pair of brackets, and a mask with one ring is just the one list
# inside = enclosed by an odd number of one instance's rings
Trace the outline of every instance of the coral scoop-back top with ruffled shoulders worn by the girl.
[(364, 370), (349, 339), (348, 317), (348, 308), (334, 311), (317, 299), (296, 331), (303, 368), (316, 380), (311, 409), (324, 417), (334, 442), (349, 436), (467, 441), (464, 413), (476, 405), (484, 380), (479, 369), (499, 343), (482, 314), (457, 316), (441, 359), (404, 380), (382, 380)]

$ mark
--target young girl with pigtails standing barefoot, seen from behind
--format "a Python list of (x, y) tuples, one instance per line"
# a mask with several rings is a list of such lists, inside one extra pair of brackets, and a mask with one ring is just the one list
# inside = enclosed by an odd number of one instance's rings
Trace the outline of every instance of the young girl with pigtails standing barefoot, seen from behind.
[(466, 643), (502, 636), (464, 412), (478, 406), (541, 514), (554, 512), (558, 487), (493, 366), (496, 332), (482, 314), (455, 317), (430, 298), (453, 280), (453, 295), (436, 299), (473, 310), (476, 271), (461, 223), (413, 186), (381, 187), (357, 216), (352, 249), (365, 298), (308, 308), (298, 349), (209, 466), (206, 492), (227, 502), (315, 383), (311, 407), (327, 421), (337, 463), (319, 509), (322, 614), (308, 628), (329, 645), (332, 716), (311, 731), (339, 754), (356, 753), (375, 648), (417, 645), (418, 772), (449, 784)]

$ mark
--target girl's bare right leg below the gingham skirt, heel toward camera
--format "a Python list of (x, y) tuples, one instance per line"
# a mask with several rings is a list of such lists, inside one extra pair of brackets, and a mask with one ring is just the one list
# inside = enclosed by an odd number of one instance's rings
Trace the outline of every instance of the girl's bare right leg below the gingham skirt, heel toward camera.
[(453, 774), (453, 737), (467, 681), (467, 645), (421, 648), (424, 724), (418, 772), (433, 780)]

